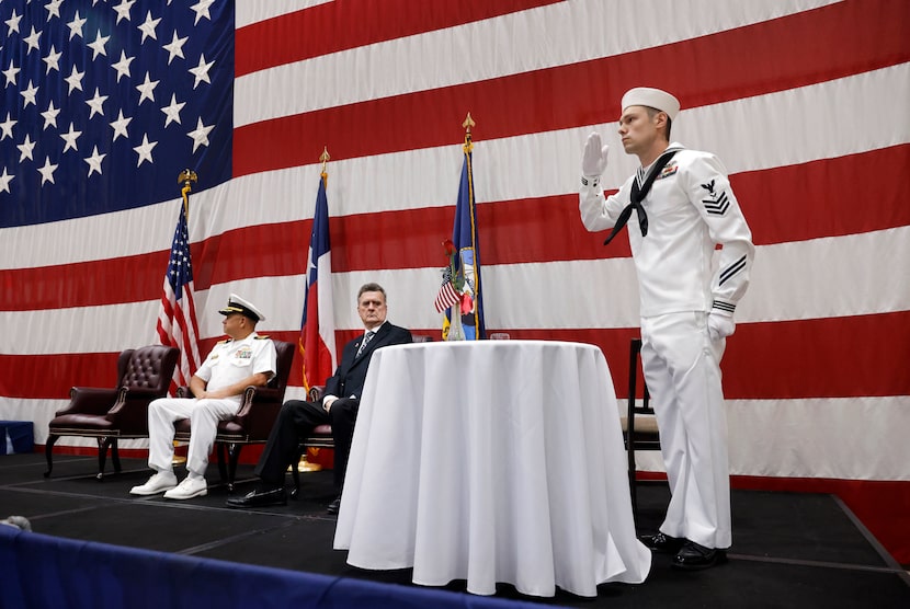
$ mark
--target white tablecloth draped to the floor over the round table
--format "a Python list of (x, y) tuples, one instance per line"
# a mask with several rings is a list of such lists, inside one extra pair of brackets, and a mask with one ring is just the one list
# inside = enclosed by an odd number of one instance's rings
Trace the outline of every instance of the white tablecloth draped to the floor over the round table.
[(413, 566), (416, 584), (640, 583), (613, 382), (592, 345), (480, 341), (373, 354), (334, 548), (351, 565)]

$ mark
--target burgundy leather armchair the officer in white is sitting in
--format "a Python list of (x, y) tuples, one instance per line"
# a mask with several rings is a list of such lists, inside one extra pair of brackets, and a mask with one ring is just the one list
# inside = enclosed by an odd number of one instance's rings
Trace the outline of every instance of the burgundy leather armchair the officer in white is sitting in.
[[(274, 343), (277, 354), (275, 376), (265, 387), (248, 387), (243, 391), (243, 400), (237, 409), (237, 414), (218, 423), (218, 432), (215, 436), (218, 473), (221, 481), (227, 483), (228, 491), (234, 491), (240, 450), (248, 444), (265, 444), (269, 440), (272, 425), (278, 417), (284, 401), (296, 345), (282, 341), (274, 341)], [(178, 389), (178, 397), (191, 398), (192, 395), (189, 388), (181, 387)], [(178, 421), (174, 432), (175, 440), (190, 441), (192, 435), (190, 420)]]

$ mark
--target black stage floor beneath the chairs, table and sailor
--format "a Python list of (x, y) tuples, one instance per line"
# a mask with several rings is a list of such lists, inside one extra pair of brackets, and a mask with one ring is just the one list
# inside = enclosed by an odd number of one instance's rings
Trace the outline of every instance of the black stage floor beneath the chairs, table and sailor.
[[(255, 512), (225, 507), (229, 496), (209, 468), (206, 497), (170, 502), (133, 497), (129, 487), (149, 471), (123, 460), (124, 471), (94, 479), (94, 457), (57, 456), (45, 479), (42, 455), (0, 457), (0, 518), (29, 518), (35, 531), (261, 566), (411, 585), (410, 572), (372, 572), (345, 563), (332, 550), (335, 519), (331, 472), (302, 474), (303, 497), (286, 507)], [(109, 469), (111, 468), (109, 463)], [(183, 472), (178, 471), (180, 478)], [(252, 467), (241, 466), (238, 493), (251, 489)], [(289, 476), (288, 476), (289, 484)], [(653, 530), (669, 497), (664, 484), (638, 487), (639, 525)], [(595, 599), (558, 593), (530, 598), (501, 586), (499, 597), (569, 607), (910, 607), (910, 577), (831, 495), (735, 491), (733, 548), (729, 563), (695, 573), (670, 567), (655, 554), (641, 585), (607, 584)], [(464, 582), (447, 589), (464, 590)]]

